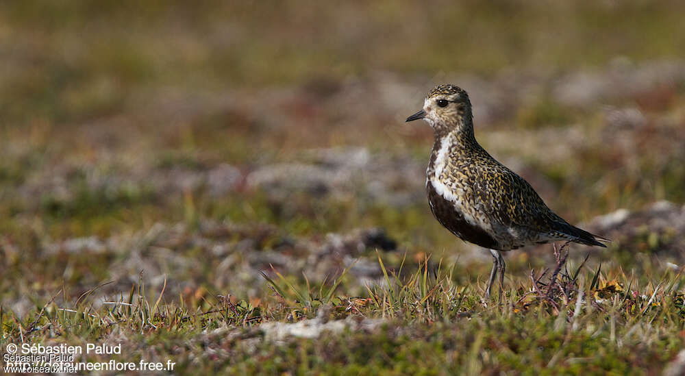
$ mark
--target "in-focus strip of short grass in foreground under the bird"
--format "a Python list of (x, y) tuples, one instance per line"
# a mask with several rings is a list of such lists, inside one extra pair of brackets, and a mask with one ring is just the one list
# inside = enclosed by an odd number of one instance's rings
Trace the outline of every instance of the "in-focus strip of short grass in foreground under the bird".
[[(453, 281), (453, 266), (426, 258), (388, 270), (377, 260), (382, 283), (353, 297), (340, 292), (347, 271), (320, 286), (264, 274), (274, 294), (257, 300), (199, 294), (167, 302), (166, 280), (162, 290), (147, 291), (142, 273), (128, 292), (99, 307), (94, 297), (102, 286), (79, 297), (60, 290), (25, 317), (3, 309), (3, 342), (47, 343), (55, 334), (71, 344), (127, 338), (124, 355), (114, 359), (168, 356), (179, 373), (340, 375), (654, 373), (682, 346), (682, 269), (652, 280), (566, 266), (551, 290), (548, 279), (531, 272), (527, 283), (515, 278), (501, 299), (485, 301), (482, 286)], [(59, 295), (69, 304), (55, 303)], [(269, 340), (259, 326), (348, 317), (382, 321), (373, 329), (286, 340)], [(138, 340), (148, 345), (136, 346)]]

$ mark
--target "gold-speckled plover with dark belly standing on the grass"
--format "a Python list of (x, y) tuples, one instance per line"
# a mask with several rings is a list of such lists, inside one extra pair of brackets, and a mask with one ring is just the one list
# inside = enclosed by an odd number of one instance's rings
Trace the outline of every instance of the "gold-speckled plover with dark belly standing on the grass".
[(497, 273), (499, 296), (503, 294), (503, 252), (557, 241), (606, 247), (603, 242), (610, 241), (555, 214), (523, 177), (497, 162), (477, 142), (466, 90), (451, 84), (436, 86), (426, 95), (423, 109), (406, 121), (419, 119), (434, 134), (426, 169), (432, 214), (452, 234), (493, 255), (486, 299)]

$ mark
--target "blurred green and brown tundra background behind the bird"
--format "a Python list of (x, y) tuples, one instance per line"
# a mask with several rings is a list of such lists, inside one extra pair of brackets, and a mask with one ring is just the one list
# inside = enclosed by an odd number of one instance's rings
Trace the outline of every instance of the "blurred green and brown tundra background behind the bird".
[[(299, 275), (326, 234), (366, 227), (486, 271), (432, 219), (432, 134), (403, 123), (443, 82), (471, 93), (477, 138), (569, 221), (674, 203), (675, 224), (636, 214), (631, 242), (597, 258), (680, 262), (683, 14), (682, 1), (4, 1), (2, 301), (25, 312), (62, 284), (127, 290), (141, 269), (152, 286), (175, 279), (173, 297), (260, 295), (256, 269)], [(516, 253), (512, 270), (546, 260)]]

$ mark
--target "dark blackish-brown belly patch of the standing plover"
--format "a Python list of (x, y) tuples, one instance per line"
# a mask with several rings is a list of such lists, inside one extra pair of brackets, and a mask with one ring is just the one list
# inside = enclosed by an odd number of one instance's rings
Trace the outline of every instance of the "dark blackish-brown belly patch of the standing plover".
[(426, 184), (430, 210), (441, 225), (449, 229), (460, 239), (490, 249), (499, 249), (497, 241), (484, 229), (466, 222), (464, 215), (454, 208), (454, 203), (447, 201), (433, 188)]

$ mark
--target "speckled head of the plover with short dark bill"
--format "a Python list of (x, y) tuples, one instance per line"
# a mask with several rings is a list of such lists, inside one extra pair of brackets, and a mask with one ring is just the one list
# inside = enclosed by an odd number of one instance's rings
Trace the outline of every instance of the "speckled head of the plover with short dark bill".
[(423, 110), (409, 116), (407, 121), (420, 118), (438, 133), (473, 131), (469, 95), (455, 85), (438, 85), (430, 90), (423, 101)]

